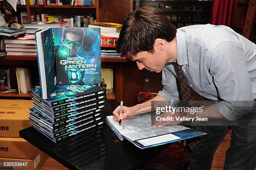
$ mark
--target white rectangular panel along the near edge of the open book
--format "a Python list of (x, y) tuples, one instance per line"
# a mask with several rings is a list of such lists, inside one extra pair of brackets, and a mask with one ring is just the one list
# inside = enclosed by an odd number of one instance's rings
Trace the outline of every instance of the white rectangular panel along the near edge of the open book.
[(172, 140), (178, 140), (180, 137), (177, 137), (174, 134), (164, 134), (161, 136), (146, 138), (143, 140), (137, 140), (137, 142), (141, 143), (144, 146), (156, 145), (159, 143), (169, 142)]

